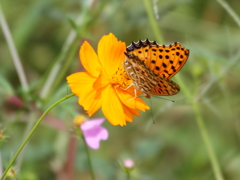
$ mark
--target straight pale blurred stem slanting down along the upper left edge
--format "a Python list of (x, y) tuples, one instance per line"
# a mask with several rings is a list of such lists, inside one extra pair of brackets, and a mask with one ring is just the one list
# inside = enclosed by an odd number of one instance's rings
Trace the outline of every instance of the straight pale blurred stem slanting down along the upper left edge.
[(18, 74), (18, 77), (20, 79), (22, 89), (23, 89), (24, 92), (28, 92), (29, 88), (28, 88), (27, 78), (25, 76), (25, 73), (24, 73), (22, 63), (20, 61), (16, 46), (13, 42), (13, 38), (12, 38), (11, 32), (9, 30), (8, 24), (6, 22), (4, 14), (2, 12), (1, 4), (0, 4), (0, 24), (1, 24), (1, 27), (2, 27), (3, 34), (6, 38), (10, 53), (12, 55), (13, 63), (14, 63), (15, 68), (17, 70), (17, 74)]

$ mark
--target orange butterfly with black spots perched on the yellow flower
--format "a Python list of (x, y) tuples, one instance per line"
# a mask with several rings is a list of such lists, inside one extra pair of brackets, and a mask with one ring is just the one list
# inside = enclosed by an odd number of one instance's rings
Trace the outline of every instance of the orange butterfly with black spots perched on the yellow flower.
[(189, 50), (178, 42), (170, 45), (159, 45), (148, 39), (132, 42), (125, 52), (123, 67), (132, 79), (130, 86), (143, 93), (168, 96), (177, 94), (180, 87), (170, 80), (186, 63)]

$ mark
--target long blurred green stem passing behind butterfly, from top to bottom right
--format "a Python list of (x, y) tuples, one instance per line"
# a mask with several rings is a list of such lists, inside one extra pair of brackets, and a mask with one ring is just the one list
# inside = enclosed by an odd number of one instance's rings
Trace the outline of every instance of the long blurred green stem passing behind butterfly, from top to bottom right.
[[(160, 34), (160, 30), (157, 29), (157, 22), (154, 19), (154, 16), (153, 16), (153, 13), (152, 13), (153, 11), (151, 11), (150, 1), (143, 0), (143, 2), (145, 4), (145, 7), (146, 7), (146, 10), (147, 10), (147, 13), (148, 13), (148, 17), (150, 19), (150, 25), (151, 25), (151, 27), (153, 29), (153, 32), (154, 32), (157, 40), (160, 41), (160, 42), (163, 42), (163, 38), (161, 38), (162, 35)], [(181, 87), (181, 90), (183, 91), (183, 93), (187, 97), (187, 99), (189, 101), (192, 101), (192, 99), (193, 99), (192, 96), (191, 96), (192, 93), (190, 92), (190, 90), (187, 87), (187, 85), (182, 81), (182, 79), (180, 78), (179, 75), (176, 76), (176, 79), (177, 79), (178, 84)], [(206, 130), (206, 127), (205, 127), (202, 115), (200, 113), (200, 108), (198, 106), (198, 101), (192, 102), (192, 108), (193, 108), (194, 113), (196, 115), (198, 128), (200, 130), (200, 133), (202, 135), (204, 144), (206, 146), (206, 150), (207, 150), (210, 162), (212, 164), (212, 168), (213, 168), (213, 172), (214, 172), (214, 175), (216, 177), (216, 180), (223, 180), (223, 176), (222, 176), (222, 173), (221, 173), (221, 170), (220, 170), (220, 165), (219, 165), (219, 163), (217, 161), (215, 152), (213, 151), (209, 135), (207, 133), (207, 130)]]

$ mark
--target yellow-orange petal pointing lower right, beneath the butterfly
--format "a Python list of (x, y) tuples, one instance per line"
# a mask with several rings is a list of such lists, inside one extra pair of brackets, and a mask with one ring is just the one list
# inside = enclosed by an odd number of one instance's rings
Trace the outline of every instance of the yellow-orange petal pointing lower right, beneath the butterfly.
[(134, 97), (132, 94), (121, 88), (116, 88), (116, 92), (119, 99), (121, 99), (122, 103), (125, 104), (127, 107), (131, 109), (141, 110), (144, 112), (146, 109), (150, 109), (148, 105), (143, 102), (143, 100), (139, 97)]

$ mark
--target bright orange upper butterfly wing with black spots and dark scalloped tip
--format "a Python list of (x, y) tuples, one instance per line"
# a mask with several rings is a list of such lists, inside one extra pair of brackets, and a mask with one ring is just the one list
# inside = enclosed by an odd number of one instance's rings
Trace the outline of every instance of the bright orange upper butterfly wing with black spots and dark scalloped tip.
[(152, 71), (167, 79), (172, 78), (183, 67), (189, 56), (189, 50), (178, 42), (166, 46), (148, 39), (132, 42), (127, 47), (127, 52), (137, 56)]

